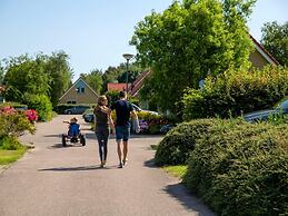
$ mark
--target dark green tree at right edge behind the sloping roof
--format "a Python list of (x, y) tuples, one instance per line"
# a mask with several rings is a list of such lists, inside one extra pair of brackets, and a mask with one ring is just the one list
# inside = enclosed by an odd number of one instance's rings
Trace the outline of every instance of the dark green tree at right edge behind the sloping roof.
[(288, 66), (288, 21), (279, 24), (277, 21), (264, 24), (261, 45), (282, 66)]

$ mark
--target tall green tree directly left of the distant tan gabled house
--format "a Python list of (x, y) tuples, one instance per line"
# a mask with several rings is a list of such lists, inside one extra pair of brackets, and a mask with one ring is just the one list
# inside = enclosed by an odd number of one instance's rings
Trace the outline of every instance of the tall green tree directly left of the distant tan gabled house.
[(64, 51), (52, 52), (46, 59), (44, 70), (50, 76), (49, 95), (53, 106), (57, 106), (59, 98), (68, 89), (72, 79), (72, 69), (68, 59), (69, 56)]

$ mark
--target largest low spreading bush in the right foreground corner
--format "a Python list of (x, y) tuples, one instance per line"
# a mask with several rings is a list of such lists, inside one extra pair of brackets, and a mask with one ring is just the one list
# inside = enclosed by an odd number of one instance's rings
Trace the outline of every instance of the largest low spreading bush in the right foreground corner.
[(183, 181), (220, 215), (287, 215), (287, 131), (217, 120), (197, 140)]

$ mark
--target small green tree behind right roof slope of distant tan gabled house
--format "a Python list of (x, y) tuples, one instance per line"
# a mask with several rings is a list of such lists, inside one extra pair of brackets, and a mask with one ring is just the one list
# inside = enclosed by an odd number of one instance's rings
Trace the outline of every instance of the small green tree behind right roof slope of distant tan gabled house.
[(103, 80), (102, 80), (102, 71), (95, 69), (90, 71), (90, 73), (85, 75), (81, 73), (80, 77), (97, 92), (101, 94)]

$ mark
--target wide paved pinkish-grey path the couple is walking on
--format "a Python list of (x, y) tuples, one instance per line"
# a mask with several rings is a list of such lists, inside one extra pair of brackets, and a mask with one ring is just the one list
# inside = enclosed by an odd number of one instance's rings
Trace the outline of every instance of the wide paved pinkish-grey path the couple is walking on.
[(176, 178), (152, 166), (149, 146), (160, 137), (133, 137), (123, 169), (117, 168), (111, 138), (107, 168), (100, 169), (88, 124), (81, 121), (86, 147), (61, 147), (63, 119), (69, 116), (38, 124), (34, 136), (22, 137), (36, 149), (0, 174), (1, 216), (213, 215)]

